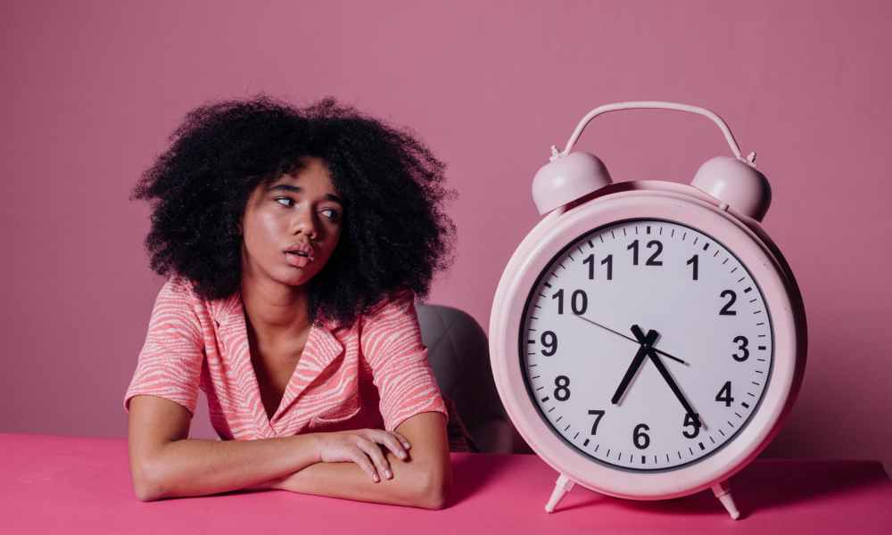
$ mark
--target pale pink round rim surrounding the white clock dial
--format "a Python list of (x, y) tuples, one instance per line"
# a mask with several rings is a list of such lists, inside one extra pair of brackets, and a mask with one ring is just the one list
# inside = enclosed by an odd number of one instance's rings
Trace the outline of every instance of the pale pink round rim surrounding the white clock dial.
[[(677, 186), (677, 185), (676, 185)], [(542, 421), (520, 369), (516, 335), (524, 304), (541, 270), (567, 243), (591, 230), (632, 218), (665, 219), (691, 226), (723, 243), (746, 266), (772, 311), (772, 380), (746, 427), (713, 455), (677, 469), (634, 473), (599, 465), (559, 439)], [(778, 251), (780, 254), (780, 251)], [(596, 198), (552, 212), (518, 246), (493, 301), (490, 325), (491, 367), (497, 390), (517, 431), (546, 463), (591, 490), (620, 498), (662, 499), (688, 495), (725, 481), (761, 452), (780, 429), (795, 400), (805, 365), (804, 318), (795, 284), (789, 284), (772, 250), (743, 222), (693, 196), (636, 189)]]

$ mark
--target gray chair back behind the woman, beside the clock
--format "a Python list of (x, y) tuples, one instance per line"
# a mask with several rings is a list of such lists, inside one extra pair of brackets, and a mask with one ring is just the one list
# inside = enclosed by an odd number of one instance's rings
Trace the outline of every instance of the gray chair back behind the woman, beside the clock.
[(422, 342), (442, 394), (452, 400), (481, 452), (528, 451), (508, 419), (490, 367), (486, 333), (466, 312), (416, 303)]

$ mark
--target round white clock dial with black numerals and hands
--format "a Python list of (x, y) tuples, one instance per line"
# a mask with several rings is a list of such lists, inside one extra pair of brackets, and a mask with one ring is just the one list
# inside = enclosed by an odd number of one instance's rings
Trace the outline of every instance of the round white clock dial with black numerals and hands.
[(747, 268), (678, 223), (580, 236), (541, 272), (519, 337), (529, 395), (566, 442), (607, 465), (688, 465), (721, 449), (771, 378), (772, 323)]

